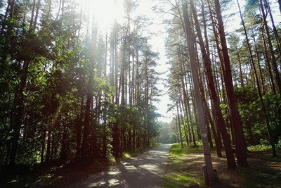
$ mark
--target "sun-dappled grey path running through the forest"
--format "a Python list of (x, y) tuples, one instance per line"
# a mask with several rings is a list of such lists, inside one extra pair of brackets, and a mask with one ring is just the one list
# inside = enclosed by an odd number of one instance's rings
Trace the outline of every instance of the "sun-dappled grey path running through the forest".
[(162, 187), (162, 177), (168, 161), (171, 144), (163, 144), (136, 158), (124, 161), (110, 169), (73, 184), (69, 188), (86, 187)]

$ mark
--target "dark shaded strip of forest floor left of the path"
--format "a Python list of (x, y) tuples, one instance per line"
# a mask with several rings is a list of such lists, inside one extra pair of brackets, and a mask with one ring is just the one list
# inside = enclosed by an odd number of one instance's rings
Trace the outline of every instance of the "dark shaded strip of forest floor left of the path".
[[(150, 149), (150, 148), (149, 148)], [(124, 153), (124, 157), (109, 160), (95, 159), (83, 163), (52, 163), (50, 165), (22, 166), (13, 172), (0, 174), (0, 188), (63, 188), (82, 182), (92, 175), (107, 170), (119, 161), (139, 156), (149, 149)]]

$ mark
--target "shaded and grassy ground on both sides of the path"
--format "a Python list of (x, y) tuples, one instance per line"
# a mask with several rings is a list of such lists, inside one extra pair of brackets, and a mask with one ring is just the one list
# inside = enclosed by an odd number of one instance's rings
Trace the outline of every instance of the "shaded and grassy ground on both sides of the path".
[[(277, 155), (281, 156), (281, 151), (277, 151)], [(211, 156), (214, 169), (218, 173), (218, 181), (212, 186), (214, 188), (281, 187), (281, 158), (273, 158), (270, 151), (250, 151), (248, 154), (250, 167), (237, 168), (237, 170), (227, 170), (226, 158), (216, 157), (216, 151), (211, 151)], [(122, 160), (126, 161), (127, 159), (122, 158)], [(174, 144), (169, 153), (164, 187), (206, 188), (202, 175), (203, 164), (202, 149), (188, 146), (181, 149), (179, 144)], [(91, 175), (100, 173), (112, 165), (116, 165), (116, 163), (114, 161), (92, 161), (87, 165), (76, 163), (40, 166), (32, 170), (21, 168), (13, 175), (1, 175), (0, 187), (63, 188), (84, 181)]]

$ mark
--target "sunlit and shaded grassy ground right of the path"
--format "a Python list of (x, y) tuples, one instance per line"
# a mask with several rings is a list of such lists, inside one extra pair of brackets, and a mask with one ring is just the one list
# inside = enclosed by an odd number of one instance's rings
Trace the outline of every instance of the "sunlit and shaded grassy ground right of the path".
[[(281, 156), (278, 151), (278, 156)], [(211, 151), (218, 181), (212, 187), (223, 188), (276, 188), (281, 185), (281, 158), (273, 158), (270, 151), (250, 150), (249, 168), (227, 170), (226, 158), (218, 158)], [(164, 175), (164, 188), (207, 187), (204, 184), (202, 147), (173, 144), (169, 152), (169, 163)]]

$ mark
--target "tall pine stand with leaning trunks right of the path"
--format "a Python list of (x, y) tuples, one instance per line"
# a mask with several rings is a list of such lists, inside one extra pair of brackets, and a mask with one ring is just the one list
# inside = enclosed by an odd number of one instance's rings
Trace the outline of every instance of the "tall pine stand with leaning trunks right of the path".
[[(178, 1), (169, 4), (172, 11), (167, 13), (172, 18), (165, 20), (169, 23), (166, 54), (171, 64), (167, 86), (174, 101), (171, 108), (177, 111), (177, 134), (165, 139), (196, 145), (201, 120), (207, 126), (209, 146), (216, 147), (218, 157), (226, 152), (229, 169), (248, 166), (250, 146), (270, 149), (277, 156), (280, 29), (271, 11), (277, 3), (190, 0), (183, 5)], [(240, 23), (232, 31), (225, 23), (231, 6), (238, 7), (235, 16)]]

